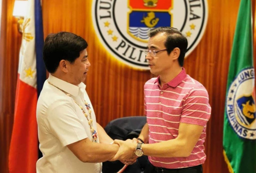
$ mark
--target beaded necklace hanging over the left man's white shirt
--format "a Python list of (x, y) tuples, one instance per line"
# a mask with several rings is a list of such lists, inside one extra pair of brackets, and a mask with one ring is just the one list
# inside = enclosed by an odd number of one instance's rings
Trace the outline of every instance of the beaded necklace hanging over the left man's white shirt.
[[(49, 80), (48, 80), (48, 83), (49, 83), (50, 85), (56, 87), (54, 84), (50, 83)], [(56, 88), (59, 89), (60, 91), (62, 91), (63, 93), (65, 93), (67, 96), (71, 97), (71, 95), (70, 95), (68, 92), (66, 92), (66, 91), (64, 91), (64, 90), (62, 90), (62, 89), (60, 89), (59, 87), (56, 87)], [(72, 97), (71, 97), (71, 98), (72, 98)], [(72, 99), (73, 99), (73, 98), (72, 98)], [(86, 117), (86, 119), (87, 119), (87, 121), (88, 121), (88, 124), (89, 124), (89, 126), (90, 126), (90, 130), (91, 130), (91, 135), (92, 135), (92, 142), (97, 142), (98, 134), (97, 134), (96, 130), (92, 127), (93, 119), (92, 119), (92, 117), (91, 117), (92, 110), (91, 110), (90, 105), (84, 100), (84, 105), (86, 106), (86, 108), (87, 108), (87, 110), (88, 110), (88, 113), (89, 113), (89, 116), (88, 116), (88, 114), (83, 110), (83, 107), (80, 106), (74, 99), (73, 99), (73, 101), (80, 107), (80, 109), (82, 110), (84, 116)], [(90, 119), (89, 119), (89, 118), (90, 118)]]

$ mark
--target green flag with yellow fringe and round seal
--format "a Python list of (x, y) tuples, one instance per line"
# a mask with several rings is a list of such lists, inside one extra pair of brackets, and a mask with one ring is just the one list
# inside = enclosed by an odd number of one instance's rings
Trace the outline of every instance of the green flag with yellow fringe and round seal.
[(228, 73), (223, 155), (230, 172), (256, 173), (251, 0), (241, 0)]

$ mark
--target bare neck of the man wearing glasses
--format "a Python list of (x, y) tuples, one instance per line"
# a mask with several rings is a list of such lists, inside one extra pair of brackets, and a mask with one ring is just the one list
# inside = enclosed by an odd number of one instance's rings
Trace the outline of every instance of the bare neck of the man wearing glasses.
[(159, 75), (160, 86), (163, 87), (165, 83), (168, 83), (171, 80), (173, 80), (181, 71), (182, 71), (182, 67), (173, 68), (173, 69), (170, 68), (168, 72), (160, 74)]

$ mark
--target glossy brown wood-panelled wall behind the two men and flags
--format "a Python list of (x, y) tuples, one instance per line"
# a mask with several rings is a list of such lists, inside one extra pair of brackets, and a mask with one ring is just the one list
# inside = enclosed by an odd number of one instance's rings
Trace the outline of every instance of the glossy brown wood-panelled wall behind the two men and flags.
[[(255, 19), (255, 0), (253, 17)], [(85, 38), (91, 67), (86, 80), (87, 92), (97, 121), (143, 115), (143, 85), (153, 77), (149, 71), (134, 70), (111, 57), (98, 40), (91, 19), (91, 0), (43, 0), (45, 37), (69, 31)], [(208, 23), (197, 48), (186, 58), (187, 73), (201, 82), (209, 93), (212, 114), (207, 126), (205, 173), (228, 172), (222, 156), (223, 113), (230, 53), (236, 26), (239, 0), (208, 0)], [(3, 0), (0, 57), (0, 172), (7, 173), (8, 150), (13, 125), (18, 51), (21, 35), (12, 17), (14, 0)], [(255, 26), (255, 22), (254, 22)], [(254, 33), (256, 27), (254, 27)], [(254, 34), (254, 45), (256, 34)], [(254, 49), (254, 57), (256, 49)], [(255, 58), (254, 58), (255, 59)], [(256, 65), (256, 62), (254, 61)], [(3, 72), (3, 73), (2, 73)]]

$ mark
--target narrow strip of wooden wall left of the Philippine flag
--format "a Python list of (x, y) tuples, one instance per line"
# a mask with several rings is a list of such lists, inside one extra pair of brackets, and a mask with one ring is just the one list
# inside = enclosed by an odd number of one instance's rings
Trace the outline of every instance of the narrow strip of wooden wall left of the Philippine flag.
[(0, 61), (0, 172), (8, 172), (21, 34), (12, 16), (14, 0), (2, 1)]

